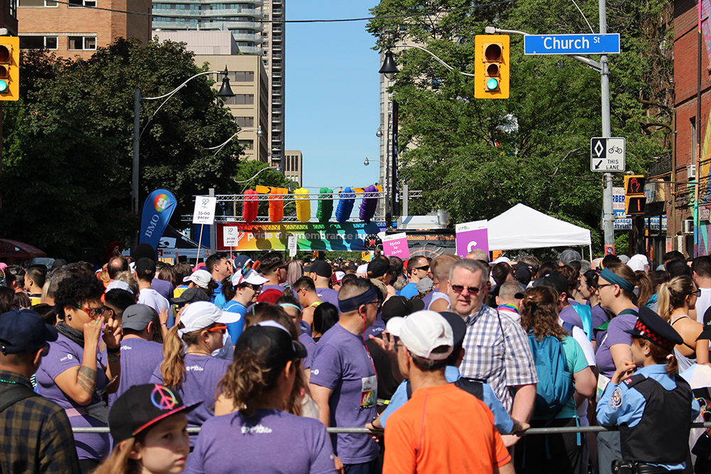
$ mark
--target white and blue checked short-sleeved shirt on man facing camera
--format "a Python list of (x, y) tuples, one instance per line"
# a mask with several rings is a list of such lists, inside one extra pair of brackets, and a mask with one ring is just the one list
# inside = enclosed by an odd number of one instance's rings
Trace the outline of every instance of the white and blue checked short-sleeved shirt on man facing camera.
[(533, 354), (521, 325), (496, 309), (483, 305), (464, 320), (463, 377), (486, 381), (504, 408), (513, 406), (511, 387), (538, 383)]

